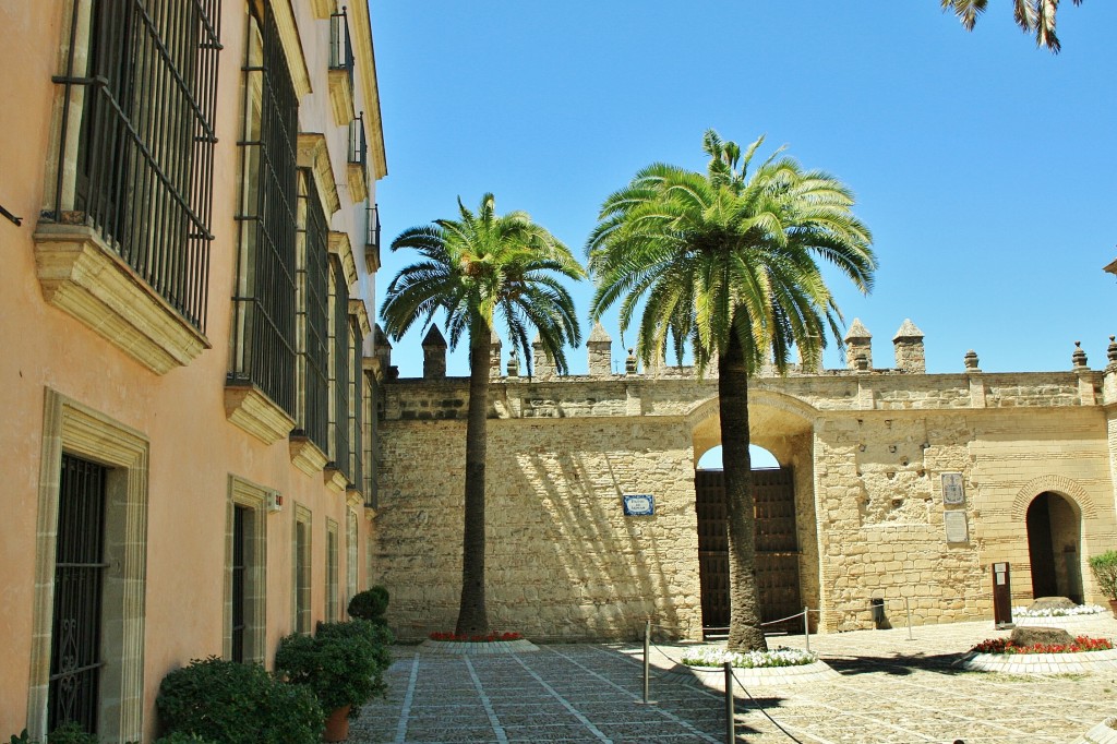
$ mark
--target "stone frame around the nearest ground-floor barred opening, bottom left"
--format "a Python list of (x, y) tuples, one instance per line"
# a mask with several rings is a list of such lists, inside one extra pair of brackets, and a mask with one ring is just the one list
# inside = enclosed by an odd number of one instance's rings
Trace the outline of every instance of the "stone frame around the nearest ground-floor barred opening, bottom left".
[(47, 388), (36, 523), (35, 600), (27, 728), (47, 734), (55, 543), (63, 452), (105, 465), (104, 622), (98, 735), (112, 741), (143, 736), (144, 629), (147, 576), (147, 499), (151, 442), (132, 429)]

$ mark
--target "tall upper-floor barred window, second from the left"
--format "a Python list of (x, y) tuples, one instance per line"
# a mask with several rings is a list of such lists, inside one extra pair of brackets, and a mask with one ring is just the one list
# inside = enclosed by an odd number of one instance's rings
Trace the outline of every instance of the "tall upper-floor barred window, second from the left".
[(294, 416), (298, 101), (270, 9), (251, 7), (229, 378)]

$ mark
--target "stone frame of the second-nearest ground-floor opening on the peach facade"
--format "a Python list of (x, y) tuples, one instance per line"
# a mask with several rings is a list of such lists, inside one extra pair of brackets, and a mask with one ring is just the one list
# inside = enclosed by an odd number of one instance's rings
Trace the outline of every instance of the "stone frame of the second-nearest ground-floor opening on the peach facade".
[(229, 475), (226, 498), (225, 531), (225, 629), (221, 655), (232, 658), (232, 522), (235, 509), (247, 508), (251, 521), (245, 551), (245, 661), (266, 664), (267, 659), (267, 565), (268, 565), (268, 497), (275, 493), (237, 475)]

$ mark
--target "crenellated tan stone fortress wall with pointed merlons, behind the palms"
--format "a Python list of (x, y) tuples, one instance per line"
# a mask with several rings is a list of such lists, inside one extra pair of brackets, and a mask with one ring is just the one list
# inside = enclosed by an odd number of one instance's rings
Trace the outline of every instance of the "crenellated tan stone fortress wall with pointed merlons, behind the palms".
[[(1105, 371), (995, 373), (966, 355), (926, 374), (906, 321), (896, 368), (871, 365), (855, 321), (847, 368), (762, 373), (750, 387), (753, 442), (795, 479), (802, 601), (818, 628), (992, 619), (991, 565), (1011, 564), (1014, 603), (1032, 597), (1027, 513), (1050, 498), (1048, 559), (1059, 588), (1104, 598), (1087, 559), (1117, 546), (1117, 344)], [(719, 443), (716, 380), (666, 364), (611, 372), (595, 327), (589, 375), (534, 376), (491, 347), (488, 607), (495, 629), (538, 639), (634, 638), (647, 617), (701, 637), (695, 465)], [(380, 401), (373, 580), (392, 592), (402, 638), (446, 630), (460, 586), (468, 380), (445, 376), (446, 344), (423, 343), (423, 379), (388, 380)], [(380, 341), (381, 366), (391, 347)], [(713, 371), (716, 374), (716, 370)], [(945, 478), (944, 478), (945, 476)], [(624, 516), (622, 495), (655, 496)], [(1047, 530), (1044, 527), (1044, 530)]]

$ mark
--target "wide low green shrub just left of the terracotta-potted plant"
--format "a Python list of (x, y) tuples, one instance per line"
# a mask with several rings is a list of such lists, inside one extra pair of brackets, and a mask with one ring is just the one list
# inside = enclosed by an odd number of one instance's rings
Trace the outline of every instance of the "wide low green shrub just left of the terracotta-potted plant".
[(194, 659), (163, 678), (155, 708), (169, 734), (213, 742), (313, 744), (325, 714), (314, 694), (258, 664)]

